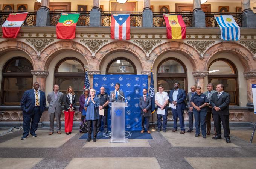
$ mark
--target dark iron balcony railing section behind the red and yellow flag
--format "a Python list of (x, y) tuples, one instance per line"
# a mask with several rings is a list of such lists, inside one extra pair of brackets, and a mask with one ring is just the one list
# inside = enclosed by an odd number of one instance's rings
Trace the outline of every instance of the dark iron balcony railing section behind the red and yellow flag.
[(182, 15), (185, 25), (192, 27), (192, 12), (153, 12), (153, 26), (165, 27), (163, 14)]

